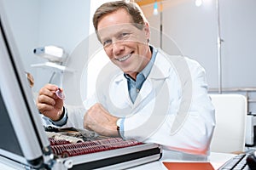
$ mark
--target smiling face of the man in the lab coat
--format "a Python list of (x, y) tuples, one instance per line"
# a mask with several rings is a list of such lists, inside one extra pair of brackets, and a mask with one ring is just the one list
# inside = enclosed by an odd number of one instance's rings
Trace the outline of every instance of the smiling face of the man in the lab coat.
[(149, 34), (148, 24), (139, 30), (123, 8), (103, 16), (98, 22), (98, 36), (109, 59), (133, 78), (151, 59)]

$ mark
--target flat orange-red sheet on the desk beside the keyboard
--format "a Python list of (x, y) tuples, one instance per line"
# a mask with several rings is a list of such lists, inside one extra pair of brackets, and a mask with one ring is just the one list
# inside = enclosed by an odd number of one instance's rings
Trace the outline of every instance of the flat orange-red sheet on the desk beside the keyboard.
[(214, 170), (210, 162), (169, 162), (163, 161), (168, 170)]

